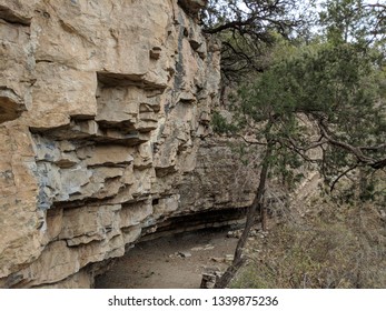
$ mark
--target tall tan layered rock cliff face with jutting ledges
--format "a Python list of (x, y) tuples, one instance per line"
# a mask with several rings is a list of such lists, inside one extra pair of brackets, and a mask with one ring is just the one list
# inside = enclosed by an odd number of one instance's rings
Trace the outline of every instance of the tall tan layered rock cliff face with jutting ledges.
[(164, 219), (250, 202), (207, 139), (206, 1), (178, 2), (0, 0), (0, 287), (91, 287)]

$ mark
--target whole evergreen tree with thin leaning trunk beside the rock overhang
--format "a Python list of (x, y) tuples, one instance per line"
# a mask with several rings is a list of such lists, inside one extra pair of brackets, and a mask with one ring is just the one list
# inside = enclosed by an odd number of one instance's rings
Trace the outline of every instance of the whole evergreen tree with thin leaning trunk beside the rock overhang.
[[(386, 168), (385, 57), (377, 44), (383, 38), (367, 41), (373, 24), (363, 24), (369, 11), (360, 11), (367, 8), (362, 1), (327, 2), (321, 14), (326, 39), (277, 58), (245, 82), (236, 96), (234, 124), (220, 120), (225, 130), (254, 131), (255, 143), (265, 152), (234, 264), (217, 287), (225, 287), (243, 263), (243, 248), (258, 211), (265, 229), (270, 173), (294, 178), (293, 169), (311, 162), (334, 190), (355, 169)], [(313, 158), (315, 149), (320, 156)]]

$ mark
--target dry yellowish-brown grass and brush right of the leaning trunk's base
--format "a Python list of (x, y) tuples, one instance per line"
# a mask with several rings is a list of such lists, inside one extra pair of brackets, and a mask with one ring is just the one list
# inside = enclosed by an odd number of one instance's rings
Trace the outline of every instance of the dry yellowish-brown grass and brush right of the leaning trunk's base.
[(250, 260), (230, 287), (385, 289), (386, 208), (313, 204), (320, 205), (299, 221), (271, 221), (268, 237), (250, 241)]

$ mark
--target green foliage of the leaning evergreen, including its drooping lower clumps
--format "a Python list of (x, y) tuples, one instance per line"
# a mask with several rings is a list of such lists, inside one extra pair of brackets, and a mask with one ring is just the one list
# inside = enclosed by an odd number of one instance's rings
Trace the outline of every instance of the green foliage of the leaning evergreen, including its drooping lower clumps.
[[(343, 144), (357, 148), (386, 141), (384, 80), (380, 79), (384, 73), (370, 54), (354, 44), (305, 47), (293, 51), (287, 59), (279, 59), (255, 81), (240, 88), (239, 126), (273, 122), (269, 133), (261, 130), (257, 136), (273, 138), (274, 170), (287, 174), (289, 180), (290, 170), (306, 160), (296, 151), (311, 146), (316, 133), (319, 140), (326, 139), (324, 130), (342, 143), (326, 141), (319, 149), (320, 171), (334, 182), (334, 178), (358, 160)], [(360, 153), (364, 159), (385, 157), (384, 149), (363, 149)]]

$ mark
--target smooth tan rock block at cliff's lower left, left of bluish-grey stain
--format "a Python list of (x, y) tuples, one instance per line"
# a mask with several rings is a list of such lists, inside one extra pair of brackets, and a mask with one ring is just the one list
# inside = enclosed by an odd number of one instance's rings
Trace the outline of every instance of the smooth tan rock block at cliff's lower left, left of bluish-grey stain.
[(42, 250), (43, 212), (37, 207), (38, 187), (30, 136), (24, 127), (1, 127), (0, 139), (0, 278), (32, 262)]

